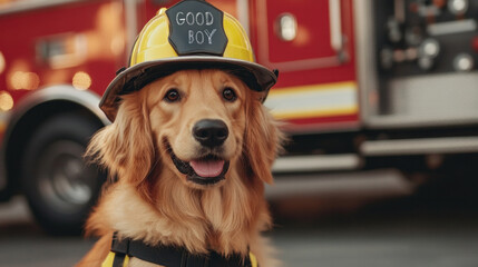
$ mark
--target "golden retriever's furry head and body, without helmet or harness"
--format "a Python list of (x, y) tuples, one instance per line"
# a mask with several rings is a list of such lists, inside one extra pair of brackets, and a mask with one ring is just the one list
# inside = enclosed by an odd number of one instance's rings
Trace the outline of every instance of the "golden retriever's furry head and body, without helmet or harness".
[(251, 251), (261, 267), (277, 266), (261, 231), (272, 225), (264, 182), (282, 134), (263, 97), (215, 69), (179, 70), (123, 96), (87, 150), (116, 182), (87, 221), (100, 239), (78, 266), (100, 266), (114, 233), (193, 254)]

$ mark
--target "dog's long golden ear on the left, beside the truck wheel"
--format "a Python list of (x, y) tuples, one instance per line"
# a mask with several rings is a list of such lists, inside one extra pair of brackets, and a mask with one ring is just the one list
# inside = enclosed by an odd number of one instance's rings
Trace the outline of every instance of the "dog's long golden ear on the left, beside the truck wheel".
[(105, 166), (111, 177), (136, 186), (147, 177), (155, 158), (146, 109), (139, 93), (125, 96), (115, 121), (92, 137), (86, 152)]

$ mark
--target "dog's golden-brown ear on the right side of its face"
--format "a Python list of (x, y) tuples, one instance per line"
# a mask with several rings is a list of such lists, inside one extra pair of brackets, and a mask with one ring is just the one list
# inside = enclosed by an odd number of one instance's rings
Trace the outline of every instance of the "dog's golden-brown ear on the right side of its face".
[(272, 164), (282, 149), (283, 134), (277, 122), (266, 108), (257, 100), (246, 103), (246, 129), (244, 137), (244, 160), (252, 175), (272, 185)]

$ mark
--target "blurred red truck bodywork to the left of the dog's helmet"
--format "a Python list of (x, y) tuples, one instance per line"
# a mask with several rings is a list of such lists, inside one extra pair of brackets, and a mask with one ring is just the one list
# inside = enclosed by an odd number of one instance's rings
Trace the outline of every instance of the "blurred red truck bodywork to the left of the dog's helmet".
[[(109, 43), (91, 43), (101, 40), (99, 36), (104, 29), (99, 28), (108, 27), (108, 24), (104, 24), (107, 23), (104, 21), (106, 19), (100, 21), (100, 17), (104, 14), (99, 12), (101, 10), (108, 12), (105, 11), (107, 9), (105, 6), (114, 2), (118, 1), (84, 1), (1, 16), (0, 51), (6, 59), (6, 69), (0, 73), (1, 90), (7, 90), (18, 102), (31, 90), (12, 88), (10, 79), (14, 71), (38, 75), (38, 89), (53, 83), (71, 83), (74, 75), (84, 71), (91, 78), (90, 89), (101, 95), (124, 61), (123, 52), (120, 57), (113, 57), (108, 52)], [(116, 23), (116, 21), (111, 22)], [(120, 27), (124, 28), (124, 24)], [(77, 34), (86, 38), (86, 46), (89, 49), (87, 51), (89, 57), (82, 62), (53, 69), (39, 59), (39, 42), (55, 38), (74, 38)], [(95, 53), (91, 56), (91, 48), (105, 50), (95, 51), (98, 56)]]

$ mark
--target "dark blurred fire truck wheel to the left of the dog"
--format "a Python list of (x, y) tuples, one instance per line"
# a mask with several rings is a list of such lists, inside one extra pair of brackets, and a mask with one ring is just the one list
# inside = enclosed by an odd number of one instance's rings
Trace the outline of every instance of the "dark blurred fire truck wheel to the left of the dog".
[(42, 123), (27, 145), (21, 185), (35, 217), (49, 234), (81, 233), (106, 177), (82, 158), (99, 128), (85, 116), (58, 115)]

